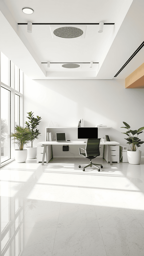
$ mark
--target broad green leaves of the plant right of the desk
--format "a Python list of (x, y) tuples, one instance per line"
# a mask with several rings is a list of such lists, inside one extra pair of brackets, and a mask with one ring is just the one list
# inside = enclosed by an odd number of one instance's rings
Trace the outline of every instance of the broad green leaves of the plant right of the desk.
[[(126, 135), (128, 136), (128, 138), (125, 138), (125, 140), (128, 141), (127, 144), (130, 145), (131, 150), (132, 150), (132, 151), (136, 151), (137, 148), (140, 147), (141, 144), (144, 143), (144, 141), (141, 141), (141, 140), (138, 138), (138, 135), (139, 135), (140, 133), (142, 133), (142, 130), (144, 129), (144, 127), (141, 127), (141, 128), (139, 128), (138, 130), (132, 131), (132, 130), (130, 130), (130, 125), (129, 125), (129, 124), (127, 124), (126, 122), (123, 122), (123, 123), (124, 123), (125, 127), (120, 127), (120, 128), (126, 128), (126, 129), (128, 130), (128, 131), (126, 131), (126, 132), (122, 132), (122, 133), (124, 133), (124, 134), (126, 134)], [(131, 133), (132, 135), (131, 135), (130, 133)], [(137, 137), (134, 136), (135, 134), (137, 134)]]

